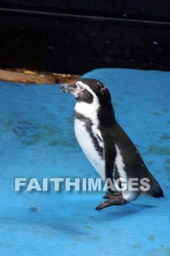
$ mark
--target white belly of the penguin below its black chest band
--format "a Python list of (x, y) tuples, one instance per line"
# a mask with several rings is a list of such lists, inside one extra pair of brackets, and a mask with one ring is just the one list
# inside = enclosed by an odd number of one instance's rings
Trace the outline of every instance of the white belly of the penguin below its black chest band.
[[(103, 145), (101, 140), (98, 139), (98, 130), (88, 129), (84, 121), (75, 118), (74, 132), (85, 156), (104, 180), (105, 165), (103, 154), (101, 155), (101, 151), (103, 151)], [(100, 148), (100, 152), (98, 151), (97, 146)]]

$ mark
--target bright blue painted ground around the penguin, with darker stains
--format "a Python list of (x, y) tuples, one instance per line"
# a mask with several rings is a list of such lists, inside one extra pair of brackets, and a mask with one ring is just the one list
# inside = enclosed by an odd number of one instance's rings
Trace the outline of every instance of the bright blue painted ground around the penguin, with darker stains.
[(170, 255), (170, 72), (96, 69), (165, 198), (95, 207), (104, 192), (14, 191), (15, 177), (98, 177), (74, 138), (74, 97), (0, 82), (0, 255)]

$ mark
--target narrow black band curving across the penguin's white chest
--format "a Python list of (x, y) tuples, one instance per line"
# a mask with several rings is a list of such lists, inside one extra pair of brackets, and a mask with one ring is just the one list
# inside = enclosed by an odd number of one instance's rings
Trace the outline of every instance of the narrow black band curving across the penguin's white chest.
[[(92, 123), (91, 119), (83, 116), (82, 114), (78, 113), (77, 111), (75, 111), (74, 116), (75, 116), (75, 118), (77, 118), (78, 120), (82, 121), (85, 124), (85, 129), (87, 130), (87, 132), (90, 135), (90, 138), (93, 141), (93, 146), (96, 148), (96, 151), (98, 151), (98, 155), (103, 159), (103, 148), (101, 148), (101, 146), (99, 146), (98, 140), (95, 137), (95, 135), (93, 134), (93, 130), (92, 130), (93, 123)], [(101, 138), (99, 138), (99, 139), (101, 140)]]

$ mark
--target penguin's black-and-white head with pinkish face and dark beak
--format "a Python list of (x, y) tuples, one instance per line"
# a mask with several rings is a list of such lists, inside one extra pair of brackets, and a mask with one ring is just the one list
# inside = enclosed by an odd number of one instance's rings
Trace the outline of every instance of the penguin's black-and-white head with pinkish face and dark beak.
[(109, 90), (96, 79), (81, 78), (75, 84), (63, 84), (60, 89), (73, 94), (77, 102), (92, 104), (97, 101), (100, 105), (111, 102)]

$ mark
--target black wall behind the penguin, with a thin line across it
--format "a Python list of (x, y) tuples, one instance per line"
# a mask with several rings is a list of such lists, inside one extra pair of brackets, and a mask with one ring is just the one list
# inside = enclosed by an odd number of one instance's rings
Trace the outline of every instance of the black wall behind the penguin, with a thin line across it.
[(170, 70), (170, 1), (0, 0), (0, 67)]

